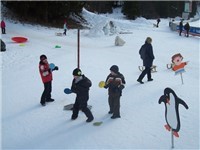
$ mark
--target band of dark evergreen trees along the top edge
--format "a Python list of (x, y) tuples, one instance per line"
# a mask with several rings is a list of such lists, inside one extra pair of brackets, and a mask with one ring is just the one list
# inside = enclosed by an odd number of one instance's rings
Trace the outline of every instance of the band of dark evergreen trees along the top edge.
[[(63, 24), (70, 14), (79, 15), (86, 7), (91, 12), (112, 13), (122, 6), (122, 13), (128, 19), (147, 19), (182, 16), (185, 1), (1, 1), (18, 19), (41, 24)], [(197, 2), (192, 1), (190, 17), (196, 14)]]

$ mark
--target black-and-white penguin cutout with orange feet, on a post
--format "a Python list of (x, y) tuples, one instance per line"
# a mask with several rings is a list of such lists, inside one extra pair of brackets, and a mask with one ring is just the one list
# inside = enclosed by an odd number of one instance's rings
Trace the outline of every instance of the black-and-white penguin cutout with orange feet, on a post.
[(180, 117), (179, 117), (179, 104), (182, 104), (186, 109), (188, 105), (180, 99), (171, 88), (165, 88), (164, 95), (162, 95), (158, 101), (165, 103), (165, 120), (167, 124), (165, 128), (172, 130), (175, 137), (179, 137), (178, 131), (180, 130)]

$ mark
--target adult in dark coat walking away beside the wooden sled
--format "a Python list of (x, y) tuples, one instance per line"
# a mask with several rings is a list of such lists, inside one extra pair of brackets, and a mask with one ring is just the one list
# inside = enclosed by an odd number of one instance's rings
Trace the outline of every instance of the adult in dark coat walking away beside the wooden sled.
[(137, 79), (137, 81), (141, 84), (144, 83), (142, 82), (142, 80), (146, 74), (148, 81), (153, 81), (153, 79), (151, 78), (151, 67), (153, 65), (153, 60), (155, 57), (153, 54), (153, 47), (151, 43), (152, 39), (150, 37), (147, 37), (145, 44), (142, 45), (139, 51), (140, 57), (143, 60), (143, 66), (145, 66), (145, 69), (142, 71), (139, 78)]

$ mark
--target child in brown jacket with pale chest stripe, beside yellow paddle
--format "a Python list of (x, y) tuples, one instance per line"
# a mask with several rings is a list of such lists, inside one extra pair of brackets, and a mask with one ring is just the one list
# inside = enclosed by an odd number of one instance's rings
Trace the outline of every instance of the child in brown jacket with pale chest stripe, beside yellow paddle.
[(120, 97), (125, 85), (125, 78), (119, 72), (117, 65), (110, 67), (110, 74), (106, 78), (104, 88), (108, 88), (108, 104), (110, 107), (109, 114), (112, 114), (111, 119), (120, 118)]

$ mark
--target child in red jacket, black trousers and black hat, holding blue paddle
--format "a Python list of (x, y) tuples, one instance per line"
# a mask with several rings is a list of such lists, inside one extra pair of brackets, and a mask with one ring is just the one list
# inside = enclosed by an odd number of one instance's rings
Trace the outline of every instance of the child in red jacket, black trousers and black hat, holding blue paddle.
[[(53, 70), (58, 70), (58, 67), (56, 66)], [(53, 102), (54, 99), (51, 98), (51, 91), (52, 91), (52, 71), (49, 68), (49, 63), (47, 61), (46, 55), (40, 56), (40, 62), (39, 62), (39, 72), (40, 76), (42, 78), (42, 82), (44, 83), (44, 91), (41, 96), (40, 104), (42, 106), (45, 106), (46, 102)]]

